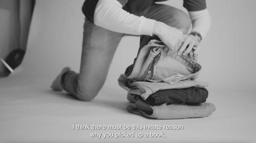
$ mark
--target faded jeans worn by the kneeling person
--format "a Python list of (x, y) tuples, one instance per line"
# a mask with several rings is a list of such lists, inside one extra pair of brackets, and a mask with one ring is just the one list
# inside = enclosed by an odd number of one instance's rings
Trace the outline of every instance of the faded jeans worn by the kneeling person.
[[(191, 26), (191, 19), (185, 12), (163, 4), (153, 4), (134, 15), (163, 22), (183, 30), (184, 34)], [(80, 100), (92, 100), (102, 88), (116, 48), (125, 35), (96, 26), (85, 19), (80, 72), (63, 73), (63, 89)], [(148, 43), (152, 37), (142, 35), (142, 39), (148, 39)]]

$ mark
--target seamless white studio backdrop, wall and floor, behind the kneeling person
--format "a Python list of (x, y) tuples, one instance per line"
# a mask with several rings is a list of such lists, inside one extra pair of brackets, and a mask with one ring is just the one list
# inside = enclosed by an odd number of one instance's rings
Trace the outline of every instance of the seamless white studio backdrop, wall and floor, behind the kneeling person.
[[(182, 0), (166, 1), (180, 8)], [(139, 37), (124, 37), (115, 53), (107, 80), (91, 102), (55, 92), (50, 84), (63, 67), (79, 71), (83, 37), (83, 0), (38, 0), (28, 47), (19, 68), (0, 79), (0, 140), (6, 142), (252, 142), (255, 140), (255, 0), (207, 1), (212, 18), (209, 35), (201, 42), (198, 81), (209, 83), (207, 102), (216, 111), (205, 118), (153, 120), (131, 114), (130, 103), (117, 78), (133, 63)], [(94, 130), (72, 130), (73, 124), (183, 125), (164, 132), (166, 138), (91, 138)], [(119, 130), (124, 132), (124, 130)], [(96, 132), (119, 132), (97, 130)]]

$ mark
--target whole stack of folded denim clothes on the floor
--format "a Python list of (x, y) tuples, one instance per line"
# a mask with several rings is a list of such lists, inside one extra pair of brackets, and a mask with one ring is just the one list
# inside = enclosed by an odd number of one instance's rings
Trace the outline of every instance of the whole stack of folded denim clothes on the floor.
[(208, 84), (195, 81), (201, 70), (197, 55), (190, 52), (178, 56), (177, 51), (167, 55), (168, 50), (161, 41), (151, 40), (145, 46), (141, 42), (133, 65), (118, 79), (128, 91), (127, 99), (136, 103), (136, 107), (128, 106), (127, 110), (155, 119), (211, 115), (216, 108), (205, 103), (208, 91), (204, 87)]

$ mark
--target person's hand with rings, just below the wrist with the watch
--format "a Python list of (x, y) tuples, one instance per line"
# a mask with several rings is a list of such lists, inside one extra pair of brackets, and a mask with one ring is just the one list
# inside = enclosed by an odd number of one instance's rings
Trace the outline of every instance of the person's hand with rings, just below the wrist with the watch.
[(187, 50), (183, 53), (183, 56), (186, 56), (193, 48), (195, 49), (194, 54), (197, 54), (197, 52), (199, 50), (198, 44), (199, 44), (198, 39), (195, 38), (193, 35), (184, 36), (184, 43), (180, 47), (177, 55), (180, 56), (188, 45), (189, 46), (188, 46)]

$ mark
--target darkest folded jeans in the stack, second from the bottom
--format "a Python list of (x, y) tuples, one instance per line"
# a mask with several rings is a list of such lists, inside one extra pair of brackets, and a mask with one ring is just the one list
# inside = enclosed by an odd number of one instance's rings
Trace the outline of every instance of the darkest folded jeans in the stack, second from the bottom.
[(187, 105), (193, 105), (206, 102), (207, 97), (207, 89), (193, 86), (182, 89), (158, 90), (151, 94), (146, 101), (153, 105), (160, 105), (162, 103), (186, 103)]

